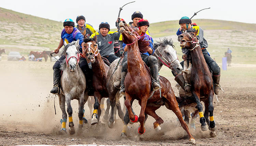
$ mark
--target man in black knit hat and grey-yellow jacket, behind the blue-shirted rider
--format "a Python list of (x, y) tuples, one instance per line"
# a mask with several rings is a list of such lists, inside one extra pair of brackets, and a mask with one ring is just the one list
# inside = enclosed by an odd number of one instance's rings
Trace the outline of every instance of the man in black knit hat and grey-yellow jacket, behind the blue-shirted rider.
[(84, 38), (87, 38), (91, 36), (93, 33), (96, 33), (96, 30), (88, 23), (85, 23), (85, 17), (83, 15), (78, 15), (76, 17), (76, 23), (75, 26), (84, 36)]

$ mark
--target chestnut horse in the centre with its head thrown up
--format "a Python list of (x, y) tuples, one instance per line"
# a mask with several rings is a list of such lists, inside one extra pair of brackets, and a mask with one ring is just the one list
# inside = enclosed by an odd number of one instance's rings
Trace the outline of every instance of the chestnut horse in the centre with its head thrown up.
[[(123, 42), (127, 44), (128, 48), (128, 73), (125, 77), (125, 106), (127, 107), (131, 122), (140, 122), (138, 133), (143, 134), (145, 132), (144, 122), (147, 114), (154, 117), (156, 120), (156, 122), (154, 122), (154, 129), (156, 131), (161, 129), (159, 125), (163, 123), (163, 120), (155, 111), (165, 105), (167, 109), (172, 110), (178, 117), (181, 126), (186, 130), (189, 136), (189, 142), (195, 143), (195, 139), (190, 134), (188, 127), (182, 118), (171, 84), (165, 77), (159, 76), (161, 91), (157, 90), (153, 96), (150, 96), (153, 94), (151, 91), (151, 75), (140, 56), (138, 47), (139, 40), (140, 44), (144, 44), (144, 48), (140, 45), (140, 49), (147, 49), (147, 41), (139, 39), (138, 32), (132, 30), (125, 22), (120, 22), (119, 26), (121, 27), (120, 32), (123, 35)], [(131, 109), (134, 99), (137, 99), (141, 106), (139, 118), (137, 115), (133, 114)]]

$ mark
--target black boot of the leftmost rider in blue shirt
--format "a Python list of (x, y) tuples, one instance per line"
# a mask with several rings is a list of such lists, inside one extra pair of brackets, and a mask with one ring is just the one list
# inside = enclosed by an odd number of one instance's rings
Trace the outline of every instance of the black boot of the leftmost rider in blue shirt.
[(60, 70), (54, 69), (53, 70), (53, 89), (50, 91), (53, 94), (59, 94), (60, 93)]

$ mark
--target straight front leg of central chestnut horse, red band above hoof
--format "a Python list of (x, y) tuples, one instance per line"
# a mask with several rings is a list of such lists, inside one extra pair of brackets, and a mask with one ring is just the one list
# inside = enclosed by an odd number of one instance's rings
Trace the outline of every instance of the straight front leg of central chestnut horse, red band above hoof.
[(141, 109), (140, 109), (140, 115), (139, 115), (140, 127), (138, 128), (138, 133), (140, 134), (144, 134), (146, 131), (144, 127), (144, 121), (145, 121), (145, 108), (147, 106), (147, 97), (148, 96), (143, 96), (141, 98)]

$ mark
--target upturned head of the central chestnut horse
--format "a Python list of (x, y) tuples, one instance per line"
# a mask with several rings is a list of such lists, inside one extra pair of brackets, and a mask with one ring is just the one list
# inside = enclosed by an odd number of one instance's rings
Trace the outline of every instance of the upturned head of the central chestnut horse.
[(136, 39), (139, 40), (139, 29), (131, 28), (125, 21), (119, 23), (120, 33), (123, 35), (123, 42), (127, 45), (133, 44)]

